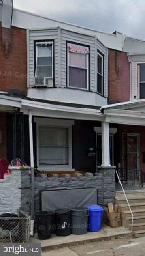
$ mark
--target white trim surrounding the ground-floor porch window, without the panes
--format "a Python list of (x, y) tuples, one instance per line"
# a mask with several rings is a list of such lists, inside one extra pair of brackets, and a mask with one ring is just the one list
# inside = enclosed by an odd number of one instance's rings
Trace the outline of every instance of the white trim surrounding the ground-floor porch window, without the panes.
[[(74, 125), (73, 120), (63, 120), (63, 119), (52, 119), (52, 118), (34, 118), (36, 122), (36, 137), (37, 137), (37, 166), (39, 170), (47, 171), (74, 171), (73, 159), (72, 159), (72, 125)], [(68, 145), (69, 145), (69, 164), (68, 165), (48, 165), (48, 166), (39, 166), (39, 126), (56, 126), (56, 127), (66, 127), (68, 128)]]

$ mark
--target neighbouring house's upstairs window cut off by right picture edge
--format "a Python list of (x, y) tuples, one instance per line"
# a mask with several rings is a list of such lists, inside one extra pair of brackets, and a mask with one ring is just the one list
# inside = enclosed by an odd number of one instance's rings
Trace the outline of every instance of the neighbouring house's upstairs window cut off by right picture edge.
[(139, 99), (145, 99), (145, 65), (139, 65)]

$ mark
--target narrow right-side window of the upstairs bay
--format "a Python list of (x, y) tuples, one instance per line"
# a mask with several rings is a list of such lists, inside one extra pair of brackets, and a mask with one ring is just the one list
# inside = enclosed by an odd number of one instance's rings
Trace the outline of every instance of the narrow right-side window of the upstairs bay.
[(104, 56), (97, 53), (97, 92), (104, 95)]

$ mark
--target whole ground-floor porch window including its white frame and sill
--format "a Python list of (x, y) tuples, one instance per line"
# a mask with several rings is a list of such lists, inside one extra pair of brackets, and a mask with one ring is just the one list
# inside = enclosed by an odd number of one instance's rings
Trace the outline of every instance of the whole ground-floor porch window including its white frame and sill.
[(72, 169), (72, 124), (70, 120), (35, 118), (39, 168)]

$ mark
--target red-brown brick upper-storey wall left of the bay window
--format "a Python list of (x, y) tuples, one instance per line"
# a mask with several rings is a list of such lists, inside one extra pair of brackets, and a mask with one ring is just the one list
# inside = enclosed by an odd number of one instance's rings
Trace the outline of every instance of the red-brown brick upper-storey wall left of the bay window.
[(27, 89), (26, 30), (0, 24), (0, 90)]

